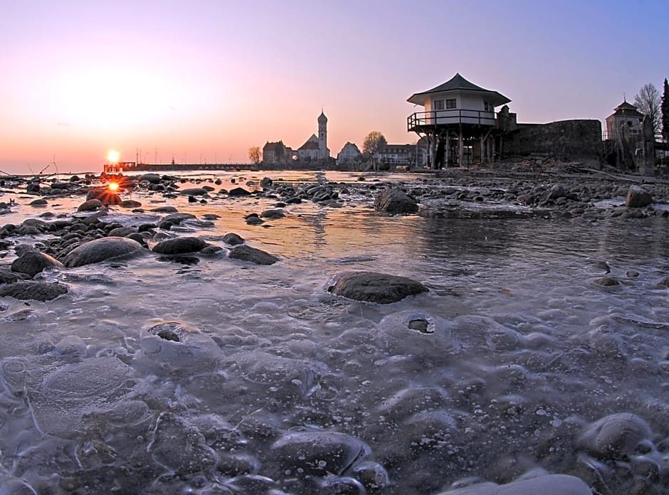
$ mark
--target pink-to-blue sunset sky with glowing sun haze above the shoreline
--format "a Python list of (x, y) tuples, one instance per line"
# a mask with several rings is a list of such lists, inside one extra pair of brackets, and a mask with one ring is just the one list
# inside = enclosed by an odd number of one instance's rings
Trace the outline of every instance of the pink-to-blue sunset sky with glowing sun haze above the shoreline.
[[(380, 131), (460, 73), (518, 122), (604, 119), (669, 77), (667, 0), (0, 0), (0, 171), (243, 163)], [(1, 175), (1, 174), (0, 174)]]

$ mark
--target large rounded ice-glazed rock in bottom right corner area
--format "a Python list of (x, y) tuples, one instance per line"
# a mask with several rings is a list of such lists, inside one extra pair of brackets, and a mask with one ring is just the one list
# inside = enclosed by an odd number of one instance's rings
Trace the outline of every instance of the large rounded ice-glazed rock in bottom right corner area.
[(650, 437), (650, 427), (641, 417), (619, 413), (589, 425), (579, 445), (599, 459), (627, 459), (641, 441)]

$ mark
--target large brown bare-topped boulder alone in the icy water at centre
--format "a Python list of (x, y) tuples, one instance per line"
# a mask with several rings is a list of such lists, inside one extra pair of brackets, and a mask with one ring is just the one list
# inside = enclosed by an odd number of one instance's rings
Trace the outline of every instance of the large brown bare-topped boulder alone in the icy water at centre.
[(381, 304), (397, 302), (407, 296), (429, 291), (420, 282), (409, 278), (376, 272), (345, 273), (327, 290), (348, 299)]

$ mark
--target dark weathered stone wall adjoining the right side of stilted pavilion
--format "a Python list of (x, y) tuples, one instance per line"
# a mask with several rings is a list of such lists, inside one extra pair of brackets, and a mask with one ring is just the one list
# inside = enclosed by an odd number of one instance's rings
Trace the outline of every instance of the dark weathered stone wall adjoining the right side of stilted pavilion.
[(599, 161), (601, 156), (599, 120), (518, 124), (517, 129), (503, 134), (501, 139), (503, 157), (549, 154), (563, 159)]

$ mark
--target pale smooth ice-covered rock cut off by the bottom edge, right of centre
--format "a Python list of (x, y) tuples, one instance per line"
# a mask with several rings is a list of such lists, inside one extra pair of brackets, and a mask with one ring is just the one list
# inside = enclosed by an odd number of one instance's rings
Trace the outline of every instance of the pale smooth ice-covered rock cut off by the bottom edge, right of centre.
[(592, 495), (590, 487), (569, 474), (544, 474), (498, 485), (481, 483), (466, 488), (442, 491), (438, 495)]

